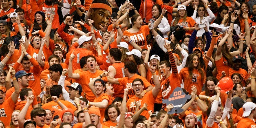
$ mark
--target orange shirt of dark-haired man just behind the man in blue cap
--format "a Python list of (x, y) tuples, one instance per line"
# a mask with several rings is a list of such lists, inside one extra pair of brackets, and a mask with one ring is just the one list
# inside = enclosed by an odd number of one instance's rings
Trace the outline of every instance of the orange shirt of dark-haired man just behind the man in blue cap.
[[(35, 97), (36, 97), (41, 93), (40, 66), (33, 57), (29, 60), (33, 64), (33, 66), (31, 66), (29, 71), (26, 71), (26, 73), (31, 73), (31, 75), (29, 75), (29, 87), (35, 90)], [(24, 70), (23, 68), (19, 68), (19, 66), (20, 64), (17, 62), (14, 64), (13, 68), (15, 69), (16, 72), (20, 70)]]

